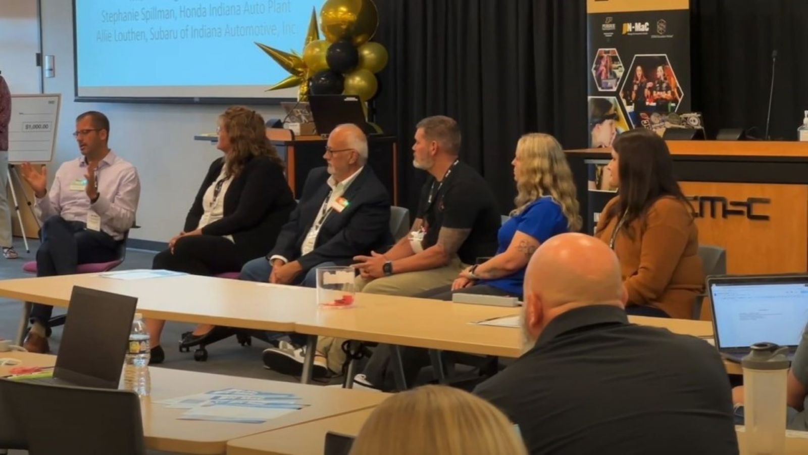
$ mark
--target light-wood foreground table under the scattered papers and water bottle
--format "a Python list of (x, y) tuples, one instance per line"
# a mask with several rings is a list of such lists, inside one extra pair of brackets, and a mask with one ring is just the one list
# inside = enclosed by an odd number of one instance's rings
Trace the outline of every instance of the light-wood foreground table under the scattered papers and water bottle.
[[(53, 366), (55, 355), (27, 352), (2, 352), (0, 357), (22, 359), (20, 366)], [(225, 444), (257, 433), (280, 430), (301, 423), (356, 412), (377, 406), (387, 393), (347, 390), (317, 385), (301, 385), (282, 381), (265, 381), (235, 376), (187, 372), (169, 368), (149, 368), (151, 395), (141, 401), (145, 443), (149, 449), (179, 453), (225, 453)], [(8, 368), (0, 368), (0, 376)], [(217, 389), (248, 389), (278, 393), (295, 393), (309, 405), (265, 423), (225, 423), (201, 420), (179, 420), (185, 410), (171, 409), (158, 403)]]

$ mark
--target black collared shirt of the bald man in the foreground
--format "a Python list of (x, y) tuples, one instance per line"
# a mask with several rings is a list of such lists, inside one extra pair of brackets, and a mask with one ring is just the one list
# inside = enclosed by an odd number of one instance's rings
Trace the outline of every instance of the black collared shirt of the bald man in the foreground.
[(519, 425), (532, 454), (738, 453), (718, 351), (611, 305), (563, 313), (474, 393)]

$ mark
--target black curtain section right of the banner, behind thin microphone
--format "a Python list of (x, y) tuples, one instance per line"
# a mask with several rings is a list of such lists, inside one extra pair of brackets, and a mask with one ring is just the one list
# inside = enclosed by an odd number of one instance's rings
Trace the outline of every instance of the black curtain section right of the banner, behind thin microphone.
[(708, 136), (754, 128), (764, 137), (776, 49), (770, 136), (796, 140), (808, 108), (808, 2), (698, 0), (691, 8), (693, 108), (704, 113)]

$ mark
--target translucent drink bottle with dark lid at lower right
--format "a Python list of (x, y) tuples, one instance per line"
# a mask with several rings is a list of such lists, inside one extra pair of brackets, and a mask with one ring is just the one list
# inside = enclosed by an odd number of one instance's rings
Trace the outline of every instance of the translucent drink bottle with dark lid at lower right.
[(785, 453), (787, 347), (760, 342), (743, 358), (745, 455)]

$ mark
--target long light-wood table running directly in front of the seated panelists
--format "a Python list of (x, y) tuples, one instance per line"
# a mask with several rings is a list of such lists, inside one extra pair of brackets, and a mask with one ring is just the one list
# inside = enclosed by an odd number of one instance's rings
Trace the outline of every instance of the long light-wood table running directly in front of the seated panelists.
[[(353, 308), (318, 308), (314, 289), (195, 275), (131, 281), (99, 274), (10, 279), (0, 281), (0, 296), (67, 307), (74, 286), (135, 296), (145, 317), (309, 335), (304, 383), (310, 379), (318, 336), (503, 357), (518, 357), (522, 351), (519, 330), (473, 324), (517, 314), (518, 308), (364, 293), (356, 295)], [(707, 321), (629, 320), (678, 334), (713, 335)], [(20, 320), (21, 327), (25, 324), (27, 312)]]

